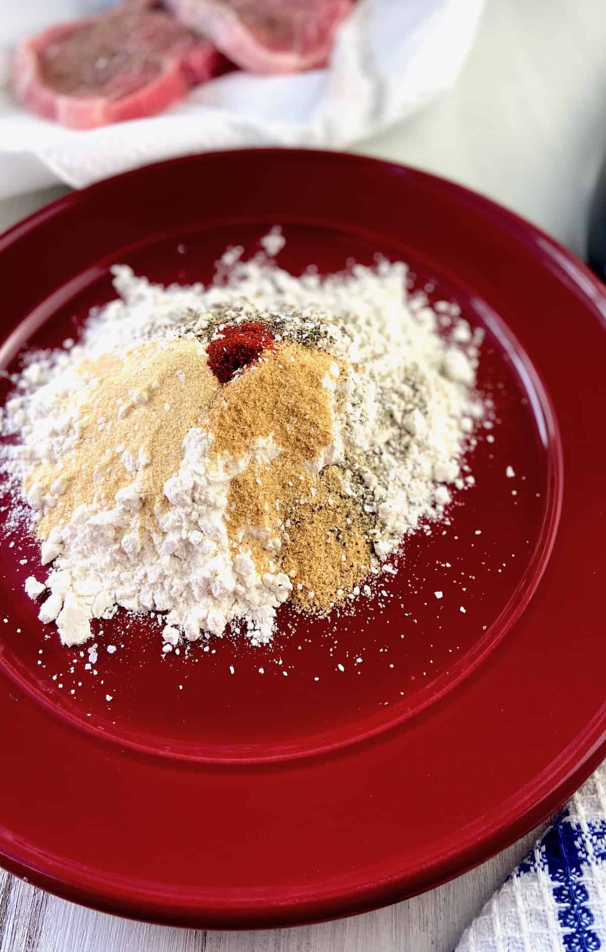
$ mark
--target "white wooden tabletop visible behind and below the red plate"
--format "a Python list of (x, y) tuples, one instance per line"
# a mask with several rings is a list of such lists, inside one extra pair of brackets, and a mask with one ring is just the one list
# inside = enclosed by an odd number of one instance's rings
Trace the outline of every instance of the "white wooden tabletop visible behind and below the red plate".
[[(582, 256), (606, 154), (604, 50), (604, 0), (486, 0), (456, 88), (360, 151), (476, 188)], [(0, 231), (63, 190), (1, 202)], [(118, 920), (0, 872), (0, 952), (448, 952), (542, 828), (424, 896), (342, 922), (264, 933)]]

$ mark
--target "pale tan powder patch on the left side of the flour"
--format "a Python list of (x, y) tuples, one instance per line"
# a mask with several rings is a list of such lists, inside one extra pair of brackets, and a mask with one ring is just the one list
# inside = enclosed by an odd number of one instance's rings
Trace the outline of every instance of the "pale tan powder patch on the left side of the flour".
[[(133, 482), (144, 517), (165, 506), (164, 484), (179, 469), (187, 430), (200, 424), (219, 389), (193, 336), (83, 362), (80, 371), (92, 385), (78, 407), (79, 439), (60, 464), (37, 466), (26, 482), (47, 492), (59, 477), (67, 482), (38, 526), (43, 539), (77, 506), (113, 506), (116, 492)], [(149, 462), (129, 471), (124, 460), (139, 466), (140, 453)]]

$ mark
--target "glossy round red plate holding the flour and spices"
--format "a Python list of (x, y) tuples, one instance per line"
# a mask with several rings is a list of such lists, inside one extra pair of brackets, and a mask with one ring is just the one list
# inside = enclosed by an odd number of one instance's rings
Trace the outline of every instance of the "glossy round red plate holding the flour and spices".
[(451, 525), (403, 545), (391, 606), (360, 605), (336, 635), (283, 624), (272, 651), (225, 639), (163, 660), (157, 629), (118, 618), (94, 675), (45, 640), (23, 594), (35, 546), (2, 546), (3, 863), (156, 922), (284, 925), (394, 902), (514, 841), (604, 753), (606, 298), (535, 228), (352, 155), (151, 166), (0, 240), (3, 366), (77, 332), (112, 296), (110, 265), (204, 280), (226, 245), (254, 251), (276, 223), (285, 268), (380, 251), (458, 301), (487, 330), (480, 386), (498, 423)]

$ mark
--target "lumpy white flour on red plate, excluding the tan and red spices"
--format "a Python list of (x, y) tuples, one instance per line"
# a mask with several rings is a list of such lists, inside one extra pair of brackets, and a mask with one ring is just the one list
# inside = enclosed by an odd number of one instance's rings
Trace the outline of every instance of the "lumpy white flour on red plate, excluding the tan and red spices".
[[(10, 471), (23, 486), (35, 466), (61, 461), (77, 444), (83, 362), (261, 318), (276, 340), (313, 343), (347, 367), (337, 383), (325, 383), (335, 439), (310, 464), (342, 466), (349, 491), (373, 520), (377, 571), (405, 533), (443, 516), (454, 486), (473, 482), (460, 463), (484, 413), (474, 390), (481, 331), (472, 332), (457, 306), (433, 309), (423, 294), (409, 297), (401, 263), (295, 278), (265, 256), (242, 262), (241, 250), (225, 254), (208, 288), (163, 288), (114, 268), (120, 297), (91, 313), (80, 342), (29, 354), (14, 378), (4, 415), (5, 434), (19, 438), (5, 447)], [(126, 393), (130, 399), (136, 394)], [(276, 447), (269, 439), (254, 453), (263, 462)], [(42, 544), (43, 565), (50, 566), (45, 589), (34, 579), (27, 585), (32, 597), (44, 591), (41, 619), (56, 622), (66, 645), (87, 641), (91, 620), (111, 618), (118, 606), (162, 613), (165, 650), (184, 636), (221, 635), (230, 622), (253, 644), (270, 641), (291, 580), (278, 567), (260, 575), (250, 557), (234, 556), (225, 528), (230, 480), (248, 462), (218, 463), (212, 434), (192, 427), (181, 465), (166, 480), (167, 506), (146, 532), (136, 479), (145, 460), (125, 462), (132, 483), (113, 506), (79, 506)], [(44, 493), (29, 487), (34, 525), (65, 491), (60, 484)]]

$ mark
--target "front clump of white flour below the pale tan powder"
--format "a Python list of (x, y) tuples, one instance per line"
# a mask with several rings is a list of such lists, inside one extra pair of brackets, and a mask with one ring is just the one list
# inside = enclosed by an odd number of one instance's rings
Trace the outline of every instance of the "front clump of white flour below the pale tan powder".
[(227, 621), (243, 617), (253, 642), (270, 639), (275, 609), (287, 598), (290, 580), (282, 573), (260, 578), (250, 559), (232, 559), (225, 530), (229, 478), (208, 468), (208, 436), (199, 428), (187, 434), (183, 463), (166, 482), (170, 506), (158, 520), (158, 532), (142, 541), (141, 502), (133, 486), (112, 509), (83, 506), (67, 526), (51, 533), (62, 554), (47, 585), (50, 598), (65, 598), (55, 617), (66, 645), (87, 641), (90, 619), (111, 618), (117, 605), (167, 612), (168, 627), (182, 626), (190, 641), (200, 637), (201, 628), (221, 635)]

